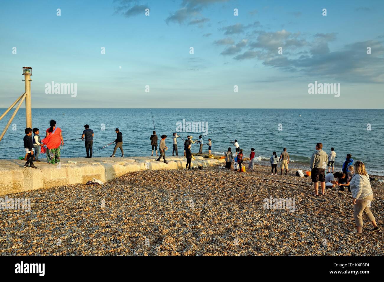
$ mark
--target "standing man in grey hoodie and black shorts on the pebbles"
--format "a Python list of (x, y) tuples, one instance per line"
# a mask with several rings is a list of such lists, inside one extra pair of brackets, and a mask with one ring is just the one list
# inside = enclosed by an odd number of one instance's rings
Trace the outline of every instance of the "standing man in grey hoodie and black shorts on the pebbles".
[(316, 143), (316, 151), (311, 157), (311, 179), (314, 186), (313, 195), (318, 196), (319, 182), (321, 183), (321, 195), (324, 195), (325, 190), (325, 168), (328, 163), (328, 155), (323, 151), (323, 144)]

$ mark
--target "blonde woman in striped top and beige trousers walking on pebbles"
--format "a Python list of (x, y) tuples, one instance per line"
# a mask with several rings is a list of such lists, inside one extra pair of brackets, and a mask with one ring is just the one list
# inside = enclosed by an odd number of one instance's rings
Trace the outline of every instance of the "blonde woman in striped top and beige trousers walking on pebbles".
[(369, 175), (365, 169), (365, 165), (361, 161), (355, 163), (355, 173), (349, 182), (353, 196), (352, 203), (354, 204), (354, 218), (357, 230), (354, 231), (355, 236), (362, 235), (362, 213), (367, 215), (369, 221), (373, 225), (372, 231), (379, 230), (376, 224), (376, 219), (370, 210), (371, 202), (373, 200), (373, 192), (371, 183), (369, 182)]

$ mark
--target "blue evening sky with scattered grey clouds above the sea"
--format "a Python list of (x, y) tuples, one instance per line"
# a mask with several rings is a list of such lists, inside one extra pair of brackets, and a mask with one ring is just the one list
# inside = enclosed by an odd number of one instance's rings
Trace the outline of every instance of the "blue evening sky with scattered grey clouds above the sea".
[[(383, 108), (383, 10), (381, 0), (2, 1), (0, 108), (24, 92), (23, 66), (33, 108)], [(339, 84), (339, 96), (308, 93), (315, 81)]]

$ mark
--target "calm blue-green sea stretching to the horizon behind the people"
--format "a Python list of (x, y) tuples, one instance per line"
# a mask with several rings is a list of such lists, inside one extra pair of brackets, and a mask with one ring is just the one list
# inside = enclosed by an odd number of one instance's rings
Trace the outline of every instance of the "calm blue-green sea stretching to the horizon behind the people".
[[(170, 148), (168, 156), (172, 155), (171, 136), (172, 130), (177, 129), (177, 123), (183, 120), (201, 121), (208, 123), (209, 133), (216, 130), (203, 138), (204, 143), (208, 142), (208, 138), (212, 139), (214, 153), (223, 153), (231, 146), (225, 132), (232, 141), (238, 140), (245, 156), (249, 155), (250, 148), (255, 148), (260, 163), (269, 163), (267, 160), (273, 151), (279, 155), (286, 147), (292, 164), (306, 167), (316, 142), (322, 142), (327, 153), (331, 147), (335, 148), (336, 167), (341, 167), (346, 154), (350, 153), (355, 161), (363, 161), (369, 172), (384, 174), (384, 110), (153, 109), (152, 113), (157, 135), (166, 134), (169, 137), (166, 140)], [(8, 113), (0, 121), (1, 130), (11, 114)], [(123, 134), (125, 156), (151, 155), (149, 138), (154, 126), (149, 109), (33, 109), (32, 116), (33, 127), (40, 129), (42, 138), (45, 137), (50, 119), (56, 120), (57, 126), (63, 131), (64, 140), (80, 138), (83, 126), (89, 124), (95, 134), (93, 150), (96, 151), (114, 141), (114, 129), (117, 127)], [(282, 130), (279, 130), (279, 124)], [(371, 130), (367, 130), (367, 124), (371, 125)], [(25, 110), (20, 109), (0, 142), (0, 158), (16, 159), (25, 155), (24, 129)], [(192, 134), (194, 139), (199, 136), (199, 132), (179, 133), (184, 137), (188, 134)], [(182, 152), (183, 142), (180, 138), (177, 142)], [(204, 151), (207, 150), (208, 146), (204, 146)], [(110, 156), (112, 151), (113, 145), (94, 152), (94, 156)], [(192, 147), (192, 152), (197, 151), (198, 146)], [(84, 142), (66, 141), (61, 156), (85, 156)]]

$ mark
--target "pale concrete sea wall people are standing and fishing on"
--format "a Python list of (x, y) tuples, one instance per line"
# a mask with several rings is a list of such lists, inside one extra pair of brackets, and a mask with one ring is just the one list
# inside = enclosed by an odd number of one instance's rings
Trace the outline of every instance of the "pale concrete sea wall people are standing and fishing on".
[[(213, 166), (223, 159), (195, 156), (191, 166)], [(76, 164), (68, 162), (75, 161)], [(23, 167), (23, 160), (0, 160), (0, 195), (28, 190), (51, 188), (67, 184), (85, 184), (92, 178), (103, 182), (131, 171), (144, 169), (181, 169), (187, 163), (184, 157), (167, 157), (168, 164), (157, 162), (155, 157), (96, 157), (63, 158), (60, 165), (34, 162), (38, 169)]]

